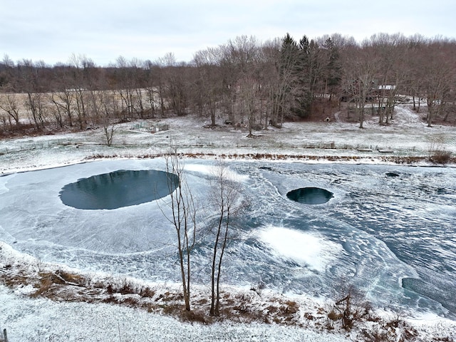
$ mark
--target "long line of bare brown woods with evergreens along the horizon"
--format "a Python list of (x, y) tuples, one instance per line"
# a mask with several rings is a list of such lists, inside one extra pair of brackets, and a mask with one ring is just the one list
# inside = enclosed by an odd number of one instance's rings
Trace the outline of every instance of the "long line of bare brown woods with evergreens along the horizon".
[(0, 127), (84, 129), (128, 120), (192, 113), (252, 130), (280, 127), (351, 104), (363, 127), (366, 104), (390, 123), (400, 95), (426, 104), (427, 124), (455, 120), (456, 41), (379, 33), (353, 37), (238, 36), (197, 51), (188, 63), (167, 53), (157, 61), (120, 56), (97, 66), (83, 55), (48, 66), (0, 62)]

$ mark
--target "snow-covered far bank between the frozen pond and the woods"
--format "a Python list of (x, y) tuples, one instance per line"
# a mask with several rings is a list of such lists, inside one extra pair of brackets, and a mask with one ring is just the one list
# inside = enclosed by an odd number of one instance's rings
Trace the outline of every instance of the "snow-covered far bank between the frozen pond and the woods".
[[(427, 128), (410, 105), (398, 105), (394, 120), (379, 126), (369, 117), (356, 123), (285, 123), (247, 138), (247, 132), (204, 128), (201, 118), (165, 118), (170, 130), (155, 134), (136, 131), (132, 123), (116, 127), (113, 146), (104, 144), (103, 130), (0, 140), (0, 174), (70, 165), (98, 157), (129, 158), (162, 155), (170, 145), (194, 157), (299, 158), (309, 162), (429, 164), (430, 147), (456, 155), (456, 128)], [(385, 152), (386, 151), (386, 152)], [(415, 161), (414, 161), (415, 160)]]

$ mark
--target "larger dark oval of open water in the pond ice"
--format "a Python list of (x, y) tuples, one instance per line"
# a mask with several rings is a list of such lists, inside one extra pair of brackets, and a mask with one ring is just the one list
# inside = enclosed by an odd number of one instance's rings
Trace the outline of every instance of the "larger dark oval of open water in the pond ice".
[(173, 192), (179, 177), (159, 170), (117, 170), (65, 185), (63, 204), (77, 209), (118, 209), (151, 202)]

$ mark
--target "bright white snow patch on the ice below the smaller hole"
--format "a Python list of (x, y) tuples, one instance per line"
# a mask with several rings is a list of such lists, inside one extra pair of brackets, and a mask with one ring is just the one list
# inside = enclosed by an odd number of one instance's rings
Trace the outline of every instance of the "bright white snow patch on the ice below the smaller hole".
[(267, 227), (259, 232), (259, 238), (282, 257), (319, 272), (325, 271), (336, 254), (342, 251), (340, 244), (318, 237), (317, 234), (284, 227)]

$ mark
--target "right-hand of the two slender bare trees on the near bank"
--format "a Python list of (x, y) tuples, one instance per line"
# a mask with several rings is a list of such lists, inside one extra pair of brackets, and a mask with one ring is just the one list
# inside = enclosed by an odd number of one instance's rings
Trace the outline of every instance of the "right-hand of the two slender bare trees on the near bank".
[(210, 196), (214, 212), (217, 215), (212, 229), (214, 246), (212, 247), (211, 267), (211, 316), (219, 316), (220, 309), (220, 276), (222, 261), (229, 241), (229, 228), (232, 226), (232, 217), (241, 209), (240, 187), (230, 176), (229, 169), (224, 162), (219, 162), (214, 169)]

